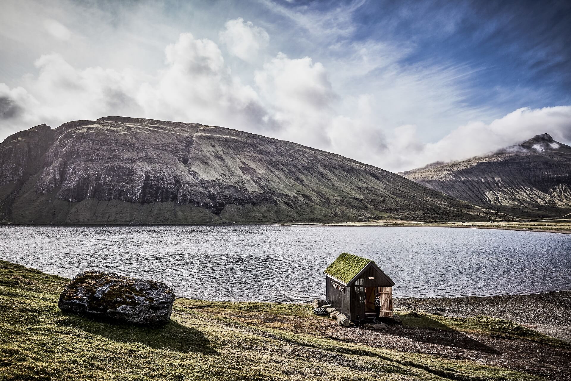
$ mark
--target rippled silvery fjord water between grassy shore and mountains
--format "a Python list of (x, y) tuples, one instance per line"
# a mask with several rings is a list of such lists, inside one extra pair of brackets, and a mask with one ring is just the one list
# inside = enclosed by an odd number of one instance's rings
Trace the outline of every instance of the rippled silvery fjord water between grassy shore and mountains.
[(571, 289), (571, 235), (477, 228), (350, 226), (2, 226), (0, 259), (73, 277), (155, 279), (179, 296), (299, 302), (324, 296), (341, 252), (366, 256), (395, 296)]

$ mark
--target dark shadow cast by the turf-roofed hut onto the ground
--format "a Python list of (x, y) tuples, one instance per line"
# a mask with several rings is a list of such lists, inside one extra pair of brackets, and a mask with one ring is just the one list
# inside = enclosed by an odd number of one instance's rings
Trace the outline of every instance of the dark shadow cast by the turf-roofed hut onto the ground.
[(411, 321), (408, 326), (392, 326), (388, 334), (401, 336), (421, 343), (474, 350), (492, 355), (501, 354), (501, 352), (465, 335), (463, 332), (452, 330), (445, 324), (428, 318), (427, 316), (411, 320), (413, 321)]

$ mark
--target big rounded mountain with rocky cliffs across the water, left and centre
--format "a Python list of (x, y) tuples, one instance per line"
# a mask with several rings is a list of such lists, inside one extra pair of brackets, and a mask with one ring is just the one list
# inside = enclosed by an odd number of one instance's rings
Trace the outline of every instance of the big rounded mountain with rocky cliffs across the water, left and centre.
[(399, 175), (223, 127), (106, 117), (0, 145), (0, 212), (22, 224), (481, 220)]

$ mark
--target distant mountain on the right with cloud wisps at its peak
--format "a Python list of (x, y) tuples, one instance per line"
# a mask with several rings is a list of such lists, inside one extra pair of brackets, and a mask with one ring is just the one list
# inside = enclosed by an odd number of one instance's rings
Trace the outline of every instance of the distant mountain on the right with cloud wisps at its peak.
[(549, 134), (464, 161), (399, 173), (469, 203), (520, 218), (571, 212), (571, 147)]

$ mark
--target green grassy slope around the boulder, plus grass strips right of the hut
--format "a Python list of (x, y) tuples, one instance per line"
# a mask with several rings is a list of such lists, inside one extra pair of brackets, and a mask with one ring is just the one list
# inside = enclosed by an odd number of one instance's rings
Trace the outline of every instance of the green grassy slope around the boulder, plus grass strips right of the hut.
[[(177, 299), (171, 322), (159, 328), (62, 314), (57, 299), (67, 281), (0, 261), (0, 380), (538, 379), (475, 362), (339, 342), (320, 334), (332, 319), (313, 315), (307, 304)], [(431, 323), (426, 319), (409, 314), (404, 323)], [(439, 321), (448, 329), (489, 335), (506, 330), (504, 323), (484, 320)], [(508, 331), (513, 334), (513, 327)], [(528, 331), (518, 338), (545, 340)]]

